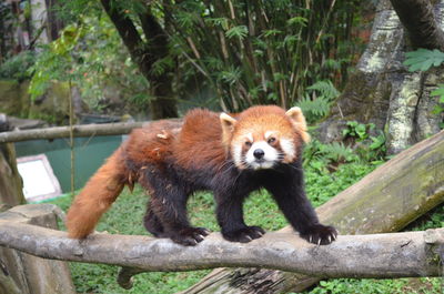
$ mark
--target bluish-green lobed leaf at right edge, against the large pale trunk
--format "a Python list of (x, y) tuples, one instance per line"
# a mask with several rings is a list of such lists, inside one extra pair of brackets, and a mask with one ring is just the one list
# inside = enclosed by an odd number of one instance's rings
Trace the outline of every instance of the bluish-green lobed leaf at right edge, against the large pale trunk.
[(406, 60), (404, 65), (408, 67), (408, 71), (426, 71), (432, 65), (438, 67), (444, 62), (444, 52), (440, 50), (418, 49), (416, 51), (405, 53)]

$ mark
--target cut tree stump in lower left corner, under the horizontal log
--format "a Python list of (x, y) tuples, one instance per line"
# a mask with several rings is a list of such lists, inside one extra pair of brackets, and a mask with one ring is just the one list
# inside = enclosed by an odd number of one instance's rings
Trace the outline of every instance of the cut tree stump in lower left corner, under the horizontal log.
[[(28, 223), (58, 229), (54, 205), (29, 204), (16, 206), (0, 214), (0, 222)], [(30, 239), (30, 242), (34, 240)], [(74, 294), (71, 274), (65, 262), (44, 260), (0, 246), (1, 294)]]

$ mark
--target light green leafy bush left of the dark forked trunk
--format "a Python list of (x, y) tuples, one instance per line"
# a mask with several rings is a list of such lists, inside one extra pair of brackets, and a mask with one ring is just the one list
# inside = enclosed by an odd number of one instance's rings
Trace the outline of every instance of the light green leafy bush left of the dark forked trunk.
[[(161, 67), (161, 64), (158, 64)], [(120, 97), (135, 110), (147, 107), (149, 83), (131, 61), (108, 18), (83, 17), (67, 26), (60, 38), (43, 47), (34, 67), (30, 93), (44, 93), (53, 80), (71, 81), (93, 110), (109, 105), (107, 98)]]

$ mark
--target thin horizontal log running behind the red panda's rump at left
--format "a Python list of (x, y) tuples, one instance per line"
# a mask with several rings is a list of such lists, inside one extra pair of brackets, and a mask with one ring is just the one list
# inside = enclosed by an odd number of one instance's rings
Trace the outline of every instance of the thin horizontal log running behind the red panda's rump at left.
[[(141, 128), (144, 124), (147, 124), (147, 122), (74, 125), (73, 132), (74, 136), (115, 135), (129, 133), (132, 129)], [(0, 133), (0, 143), (21, 142), (39, 139), (59, 139), (69, 136), (70, 126), (54, 126)]]

